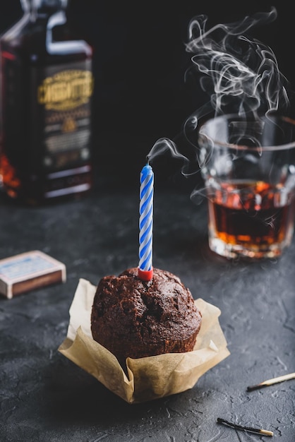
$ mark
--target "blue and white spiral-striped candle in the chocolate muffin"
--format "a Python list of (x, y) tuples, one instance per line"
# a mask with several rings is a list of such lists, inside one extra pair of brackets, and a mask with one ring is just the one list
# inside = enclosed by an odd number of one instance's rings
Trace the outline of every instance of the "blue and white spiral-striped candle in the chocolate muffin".
[(141, 280), (152, 279), (152, 214), (154, 196), (154, 173), (147, 164), (140, 173), (139, 206), (139, 265), (138, 276)]

